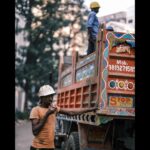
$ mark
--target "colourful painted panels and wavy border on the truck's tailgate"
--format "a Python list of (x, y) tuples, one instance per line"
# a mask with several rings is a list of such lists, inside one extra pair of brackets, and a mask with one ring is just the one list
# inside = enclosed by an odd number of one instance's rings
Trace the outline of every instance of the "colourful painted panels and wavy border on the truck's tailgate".
[[(101, 73), (101, 95), (100, 95), (100, 111), (110, 114), (117, 114), (117, 115), (131, 115), (133, 116), (134, 112), (132, 109), (133, 106), (133, 100), (132, 98), (126, 98), (126, 101), (128, 101), (128, 104), (123, 103), (125, 98), (116, 98), (116, 97), (108, 97), (107, 96), (107, 88), (108, 90), (113, 89), (120, 89), (122, 91), (128, 90), (128, 91), (134, 91), (134, 81), (132, 80), (125, 80), (125, 79), (109, 79), (108, 81), (108, 72), (109, 73), (116, 73), (116, 74), (125, 74), (134, 76), (135, 74), (135, 67), (134, 67), (134, 61), (130, 59), (125, 59), (126, 56), (130, 55), (129, 57), (134, 58), (134, 52), (133, 48), (135, 47), (134, 44), (134, 35), (132, 34), (122, 34), (122, 33), (113, 33), (113, 32), (107, 32), (106, 33), (106, 42), (105, 42), (105, 49), (103, 51), (103, 57), (102, 57), (102, 73)], [(122, 45), (121, 43), (126, 42), (126, 44)], [(130, 48), (129, 48), (130, 43)], [(122, 58), (113, 59), (111, 58), (108, 63), (109, 59), (109, 53), (110, 50), (115, 47), (114, 54), (122, 55)], [(127, 57), (126, 57), (127, 58)], [(108, 99), (110, 99), (109, 106), (107, 110), (105, 109), (108, 105)], [(122, 101), (121, 101), (122, 100)], [(114, 102), (115, 101), (115, 102)], [(113, 103), (114, 102), (114, 103)], [(114, 106), (112, 106), (114, 104)], [(126, 106), (125, 106), (126, 105)], [(122, 106), (122, 108), (120, 108)], [(131, 111), (128, 113), (128, 110)]]

